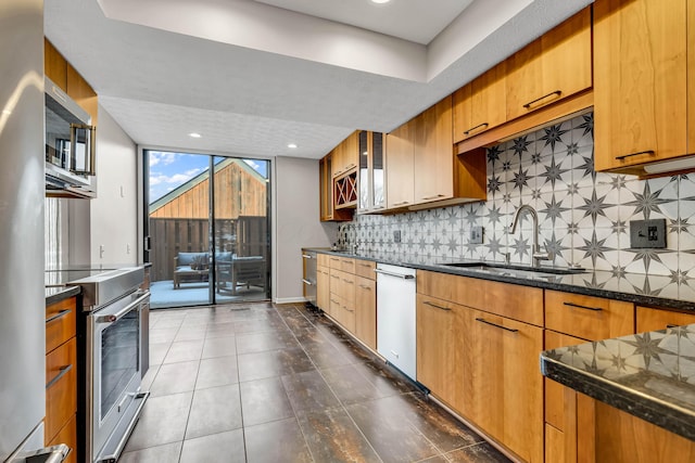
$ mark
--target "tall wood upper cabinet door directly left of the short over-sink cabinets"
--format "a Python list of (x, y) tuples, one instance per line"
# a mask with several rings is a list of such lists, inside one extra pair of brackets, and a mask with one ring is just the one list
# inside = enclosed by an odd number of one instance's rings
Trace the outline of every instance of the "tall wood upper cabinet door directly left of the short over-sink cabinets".
[(452, 98), (447, 97), (415, 118), (415, 203), (454, 196)]

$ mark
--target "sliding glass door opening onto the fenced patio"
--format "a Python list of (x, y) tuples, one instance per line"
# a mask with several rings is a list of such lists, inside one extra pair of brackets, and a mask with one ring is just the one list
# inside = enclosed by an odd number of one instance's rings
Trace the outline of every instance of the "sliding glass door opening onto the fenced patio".
[(148, 150), (144, 163), (152, 308), (267, 299), (269, 162)]

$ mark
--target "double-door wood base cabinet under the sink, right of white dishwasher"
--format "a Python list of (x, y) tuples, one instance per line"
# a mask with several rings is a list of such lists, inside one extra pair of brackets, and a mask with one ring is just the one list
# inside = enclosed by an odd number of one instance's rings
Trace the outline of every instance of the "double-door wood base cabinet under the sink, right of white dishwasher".
[(542, 462), (543, 290), (427, 271), (417, 282), (418, 381), (520, 459)]

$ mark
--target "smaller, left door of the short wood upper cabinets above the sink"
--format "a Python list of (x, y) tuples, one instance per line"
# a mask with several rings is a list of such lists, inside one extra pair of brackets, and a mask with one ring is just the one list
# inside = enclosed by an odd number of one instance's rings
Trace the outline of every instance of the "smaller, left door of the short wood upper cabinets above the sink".
[(507, 120), (505, 73), (503, 62), (454, 93), (454, 143)]

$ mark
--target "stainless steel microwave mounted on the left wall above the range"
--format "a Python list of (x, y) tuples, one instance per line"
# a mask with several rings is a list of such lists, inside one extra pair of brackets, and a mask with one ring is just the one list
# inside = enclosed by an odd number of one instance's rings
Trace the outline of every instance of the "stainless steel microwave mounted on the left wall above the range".
[(91, 117), (46, 78), (46, 195), (97, 195), (96, 129)]

